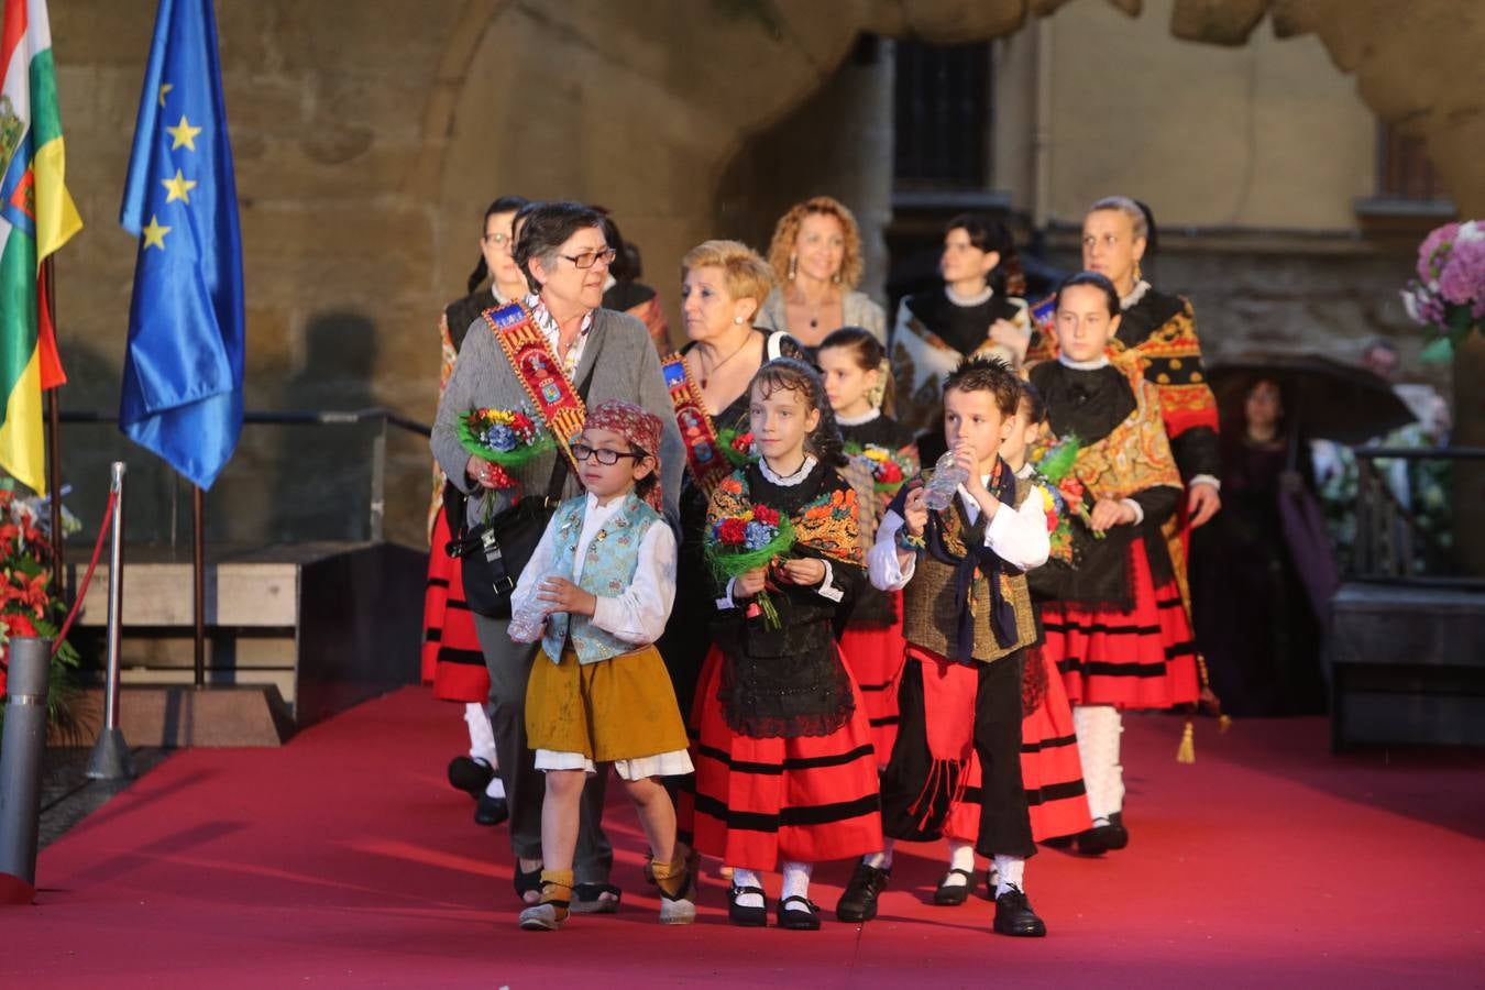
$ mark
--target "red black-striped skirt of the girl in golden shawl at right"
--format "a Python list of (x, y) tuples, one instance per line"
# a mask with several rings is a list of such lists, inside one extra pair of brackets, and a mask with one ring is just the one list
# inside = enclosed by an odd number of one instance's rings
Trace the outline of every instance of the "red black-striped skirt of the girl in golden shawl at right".
[(1197, 650), (1175, 579), (1155, 588), (1143, 543), (1130, 545), (1129, 612), (1078, 603), (1041, 606), (1042, 652), (1062, 672), (1068, 702), (1158, 709), (1197, 701)]

